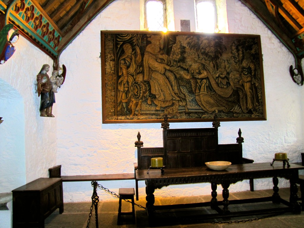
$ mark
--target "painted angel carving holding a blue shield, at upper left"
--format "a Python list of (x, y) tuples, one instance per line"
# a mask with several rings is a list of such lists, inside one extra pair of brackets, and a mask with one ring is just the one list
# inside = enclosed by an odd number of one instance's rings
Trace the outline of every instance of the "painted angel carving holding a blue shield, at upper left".
[(8, 40), (8, 33), (12, 28), (13, 24), (7, 24), (0, 32), (0, 64), (4, 64), (15, 53), (14, 43), (19, 40), (19, 33), (17, 29)]

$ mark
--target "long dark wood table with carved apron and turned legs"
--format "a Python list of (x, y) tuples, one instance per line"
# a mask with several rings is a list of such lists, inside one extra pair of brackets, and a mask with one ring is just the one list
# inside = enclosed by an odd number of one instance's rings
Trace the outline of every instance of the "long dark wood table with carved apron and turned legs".
[[(213, 219), (213, 218), (230, 218), (245, 215), (261, 215), (276, 213), (279, 211), (290, 211), (296, 214), (301, 213), (301, 207), (298, 200), (298, 186), (296, 181), (298, 180), (298, 171), (304, 169), (304, 166), (297, 164), (290, 164), (290, 167), (283, 165), (280, 162), (275, 162), (272, 166), (270, 163), (253, 163), (253, 164), (240, 164), (231, 165), (229, 168), (223, 171), (211, 170), (207, 167), (200, 168), (178, 168), (178, 169), (165, 169), (164, 174), (161, 171), (153, 171), (147, 174), (147, 170), (136, 170), (136, 180), (144, 180), (146, 183), (146, 207), (149, 216), (149, 223), (151, 226), (156, 225), (155, 221), (158, 219), (155, 217), (158, 215), (157, 210), (161, 209), (181, 209), (190, 207), (205, 207), (209, 206), (214, 209), (216, 213), (208, 214), (206, 216), (199, 215), (193, 217), (187, 217), (188, 221), (191, 219), (198, 221), (197, 219)], [(273, 190), (274, 193), (271, 197), (261, 197), (255, 199), (244, 199), (244, 200), (230, 200), (229, 201), (229, 186), (230, 184), (236, 183), (250, 178), (273, 178)], [(290, 181), (290, 199), (289, 201), (281, 199), (278, 191), (278, 177), (289, 179)], [(154, 206), (154, 191), (157, 188), (162, 188), (168, 185), (180, 185), (180, 184), (191, 184), (191, 183), (211, 183), (211, 201), (203, 203), (194, 204), (182, 204), (182, 205), (161, 205)], [(218, 202), (217, 200), (217, 185), (222, 185), (223, 187), (223, 201)], [(283, 203), (286, 207), (278, 207), (275, 209), (259, 209), (252, 211), (240, 211), (240, 212), (230, 212), (230, 204), (241, 204), (241, 203), (255, 203), (255, 202), (266, 202), (272, 201), (274, 204)], [(220, 208), (219, 206), (223, 206)]]

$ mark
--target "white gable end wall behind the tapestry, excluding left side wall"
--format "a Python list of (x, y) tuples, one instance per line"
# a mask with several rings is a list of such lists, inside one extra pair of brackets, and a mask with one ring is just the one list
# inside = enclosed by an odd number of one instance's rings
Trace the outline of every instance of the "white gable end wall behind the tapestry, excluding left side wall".
[[(300, 161), (302, 102), (295, 98), (302, 97), (303, 87), (290, 78), (292, 55), (238, 0), (227, 0), (226, 4), (231, 33), (261, 35), (267, 121), (222, 122), (219, 143), (234, 143), (241, 128), (244, 157), (271, 162), (275, 152), (287, 152), (291, 162)], [(134, 142), (138, 131), (145, 147), (162, 146), (160, 123), (102, 124), (100, 30), (139, 30), (139, 5), (139, 0), (113, 2), (60, 57), (60, 63), (67, 67), (65, 84), (56, 97), (57, 164), (62, 165), (62, 175), (132, 173), (133, 162), (137, 161)], [(170, 124), (171, 128), (210, 126), (211, 123)], [(254, 183), (255, 189), (272, 188), (271, 178)], [(120, 187), (135, 187), (135, 181), (99, 181), (99, 184), (115, 192)], [(140, 196), (145, 196), (143, 181), (139, 184)], [(279, 186), (288, 186), (288, 181), (283, 180)], [(249, 190), (249, 184), (243, 181), (229, 189)], [(210, 191), (210, 184), (171, 185), (156, 190), (155, 196), (201, 195)], [(90, 182), (64, 183), (65, 202), (90, 201), (91, 195)], [(112, 199), (102, 190), (98, 190), (98, 195), (103, 200)]]

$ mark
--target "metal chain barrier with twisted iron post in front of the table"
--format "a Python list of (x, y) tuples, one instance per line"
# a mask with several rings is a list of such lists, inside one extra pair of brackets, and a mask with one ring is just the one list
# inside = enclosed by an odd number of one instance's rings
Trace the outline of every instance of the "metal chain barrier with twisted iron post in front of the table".
[[(89, 228), (89, 225), (90, 225), (90, 219), (91, 219), (91, 216), (92, 216), (92, 210), (93, 210), (93, 205), (95, 205), (95, 220), (96, 220), (96, 228), (98, 228), (98, 214), (97, 214), (97, 204), (99, 202), (99, 196), (97, 195), (97, 186), (98, 188), (100, 189), (103, 189), (105, 192), (108, 192), (110, 193), (111, 195), (114, 195), (116, 196), (117, 198), (121, 198), (120, 195), (117, 195), (115, 192), (111, 192), (108, 188), (105, 188), (103, 187), (102, 185), (98, 184), (97, 181), (92, 181), (91, 182), (94, 190), (93, 190), (93, 195), (92, 195), (92, 206), (90, 208), (90, 213), (89, 213), (89, 219), (88, 219), (88, 222), (87, 222), (87, 227), (86, 228)], [(123, 199), (123, 198), (122, 198)], [(129, 202), (129, 203), (132, 203), (130, 200), (128, 199), (123, 199), (124, 201), (126, 202)], [(144, 206), (141, 206), (139, 204), (136, 204), (134, 203), (134, 205), (142, 208), (142, 209), (145, 209), (147, 210), (146, 207)], [(253, 222), (253, 221), (257, 221), (257, 220), (260, 220), (260, 219), (265, 219), (265, 218), (270, 218), (270, 217), (275, 217), (275, 216), (278, 216), (278, 215), (282, 215), (284, 214), (285, 212), (279, 212), (279, 213), (275, 213), (275, 214), (270, 214), (270, 215), (267, 215), (267, 216), (262, 216), (262, 217), (259, 217), (259, 218), (255, 218), (255, 219), (243, 219), (243, 220), (236, 220), (236, 221), (212, 221), (212, 222), (209, 222), (209, 221), (201, 221), (201, 220), (193, 220), (193, 219), (185, 219), (185, 218), (180, 218), (178, 216), (173, 216), (173, 215), (169, 215), (169, 214), (166, 214), (166, 213), (162, 213), (162, 212), (157, 212), (157, 211), (153, 211), (154, 213), (157, 213), (157, 214), (160, 214), (162, 216), (168, 216), (168, 217), (174, 217), (176, 219), (182, 219), (182, 220), (188, 220), (188, 221), (197, 221), (197, 222), (200, 222), (200, 223), (211, 223), (211, 224), (222, 224), (222, 223), (246, 223), (246, 222)]]

